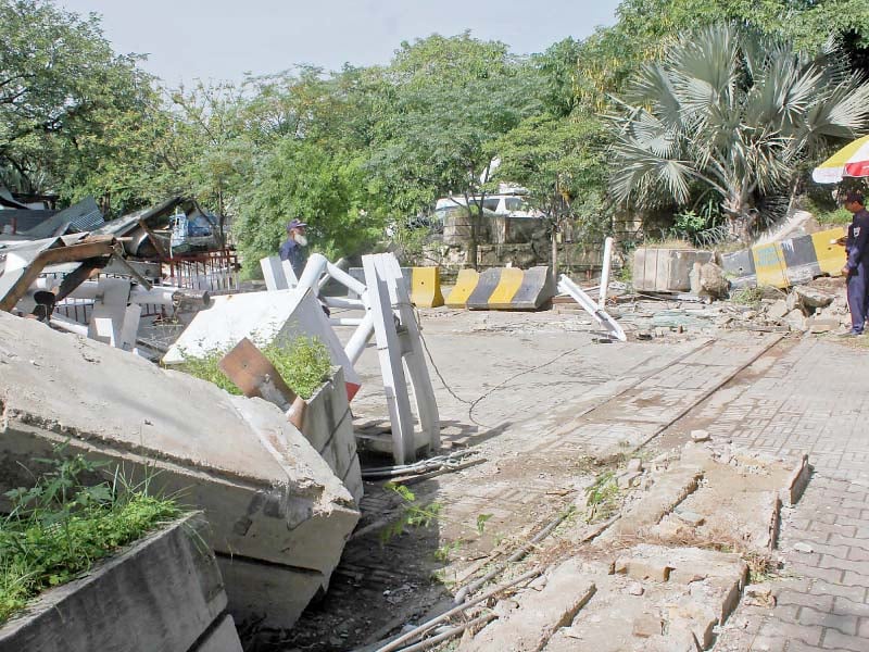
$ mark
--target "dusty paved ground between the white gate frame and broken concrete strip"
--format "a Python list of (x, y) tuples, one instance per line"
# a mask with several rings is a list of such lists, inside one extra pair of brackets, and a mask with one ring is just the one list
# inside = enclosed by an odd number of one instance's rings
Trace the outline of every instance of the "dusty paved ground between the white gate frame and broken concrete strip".
[[(662, 311), (682, 311), (690, 325), (655, 326)], [(722, 333), (720, 306), (650, 301), (613, 312), (628, 342), (601, 343), (589, 316), (571, 306), (420, 311), (443, 450), (467, 452), (476, 465), (411, 480), (403, 496), (366, 482), (363, 518), (328, 592), (292, 631), (245, 624), (247, 650), (364, 649), (452, 601), (563, 519), (530, 551), (557, 556), (577, 528), (590, 527), (578, 515), (595, 482), (624, 473), (631, 457), (682, 446), (704, 426), (692, 418), (694, 406), (726, 409), (728, 392), (789, 346), (780, 334)], [(357, 369), (354, 425), (382, 431), (389, 422), (376, 352), (366, 351)], [(385, 464), (390, 459), (363, 454), (364, 467)], [(618, 499), (603, 500), (594, 522), (619, 507)]]

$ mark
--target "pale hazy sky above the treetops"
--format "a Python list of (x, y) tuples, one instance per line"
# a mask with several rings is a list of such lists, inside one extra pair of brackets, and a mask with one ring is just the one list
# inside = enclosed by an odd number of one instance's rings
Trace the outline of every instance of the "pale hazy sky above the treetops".
[(515, 53), (540, 52), (615, 23), (619, 0), (56, 0), (102, 16), (118, 53), (169, 85), (234, 80), (305, 63), (387, 63), (403, 40), (470, 29)]

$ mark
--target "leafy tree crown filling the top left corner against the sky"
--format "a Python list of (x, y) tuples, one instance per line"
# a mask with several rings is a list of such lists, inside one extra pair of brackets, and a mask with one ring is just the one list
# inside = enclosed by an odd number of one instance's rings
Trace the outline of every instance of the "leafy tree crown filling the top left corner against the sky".
[(93, 14), (0, 0), (0, 170), (14, 189), (75, 195), (83, 171), (118, 153), (108, 145), (153, 106), (139, 61), (114, 54)]

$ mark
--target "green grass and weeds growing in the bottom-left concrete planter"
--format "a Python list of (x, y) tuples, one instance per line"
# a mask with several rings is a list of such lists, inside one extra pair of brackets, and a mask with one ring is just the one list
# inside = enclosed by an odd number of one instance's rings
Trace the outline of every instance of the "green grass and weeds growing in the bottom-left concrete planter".
[(29, 488), (8, 491), (11, 513), (0, 524), (0, 624), (40, 591), (65, 584), (91, 564), (180, 515), (147, 485), (86, 484), (103, 466), (81, 454), (34, 460), (49, 471)]

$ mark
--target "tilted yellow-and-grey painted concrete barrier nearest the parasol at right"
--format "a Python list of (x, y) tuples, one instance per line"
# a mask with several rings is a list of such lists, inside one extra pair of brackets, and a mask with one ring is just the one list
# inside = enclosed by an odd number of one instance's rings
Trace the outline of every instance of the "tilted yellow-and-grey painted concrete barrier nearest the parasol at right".
[(798, 236), (780, 242), (756, 244), (721, 256), (721, 267), (734, 287), (786, 288), (816, 276), (839, 276), (845, 264), (845, 248), (836, 241), (842, 227)]

